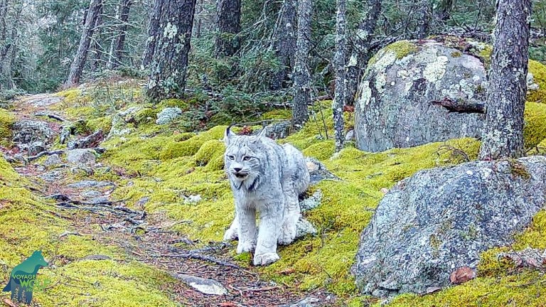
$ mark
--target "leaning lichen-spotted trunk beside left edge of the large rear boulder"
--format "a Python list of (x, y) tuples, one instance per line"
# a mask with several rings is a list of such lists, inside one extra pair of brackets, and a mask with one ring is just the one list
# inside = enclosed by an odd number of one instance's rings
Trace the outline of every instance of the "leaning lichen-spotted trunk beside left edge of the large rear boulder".
[(382, 0), (367, 0), (367, 7), (362, 13), (356, 33), (353, 34), (353, 50), (347, 64), (346, 75), (346, 104), (353, 105), (355, 96), (368, 61), (372, 57), (370, 43), (378, 17), (381, 11)]

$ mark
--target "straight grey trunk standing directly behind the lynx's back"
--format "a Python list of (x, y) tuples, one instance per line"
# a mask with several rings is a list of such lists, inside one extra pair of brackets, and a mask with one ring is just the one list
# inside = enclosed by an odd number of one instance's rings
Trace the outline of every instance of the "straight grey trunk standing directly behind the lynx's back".
[(298, 1), (298, 40), (294, 64), (294, 103), (292, 126), (298, 130), (307, 122), (307, 104), (311, 103), (311, 73), (308, 58), (311, 50), (311, 11), (313, 0)]

